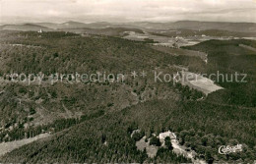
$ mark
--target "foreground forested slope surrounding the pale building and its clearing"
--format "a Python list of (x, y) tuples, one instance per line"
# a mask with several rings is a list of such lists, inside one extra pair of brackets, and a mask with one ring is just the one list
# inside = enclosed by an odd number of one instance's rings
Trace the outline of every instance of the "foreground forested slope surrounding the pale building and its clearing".
[[(75, 125), (53, 137), (36, 141), (4, 156), (5, 162), (184, 162), (165, 155), (147, 158), (136, 150), (131, 130), (147, 137), (166, 130), (175, 132), (182, 144), (191, 146), (208, 162), (251, 161), (255, 156), (255, 109), (242, 111), (208, 103), (155, 100)], [(254, 115), (255, 116), (255, 115)], [(241, 135), (242, 134), (242, 135)], [(103, 144), (106, 141), (106, 145)], [(243, 143), (240, 153), (218, 154), (225, 144)], [(169, 156), (169, 157), (168, 157)], [(96, 158), (95, 158), (96, 157)], [(238, 162), (236, 161), (236, 162)]]

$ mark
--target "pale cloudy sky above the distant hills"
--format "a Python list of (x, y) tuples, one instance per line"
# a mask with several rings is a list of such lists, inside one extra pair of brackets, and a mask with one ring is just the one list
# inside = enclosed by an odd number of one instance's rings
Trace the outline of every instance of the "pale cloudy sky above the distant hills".
[(0, 22), (256, 23), (256, 0), (0, 0)]

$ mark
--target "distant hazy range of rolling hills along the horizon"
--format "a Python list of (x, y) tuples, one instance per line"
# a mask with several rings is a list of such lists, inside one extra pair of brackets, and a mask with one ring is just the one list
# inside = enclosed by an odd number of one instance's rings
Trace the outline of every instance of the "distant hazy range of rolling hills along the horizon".
[[(183, 30), (190, 34), (209, 34), (213, 36), (255, 36), (256, 24), (254, 23), (220, 23), (220, 22), (196, 22), (196, 21), (180, 21), (174, 23), (151, 23), (151, 22), (136, 22), (136, 23), (79, 23), (79, 22), (66, 22), (62, 24), (54, 23), (33, 23), (25, 25), (5, 25), (0, 29), (10, 30), (37, 30), (42, 28), (45, 31), (49, 30), (63, 30), (63, 29), (75, 29), (75, 28), (138, 28), (141, 30), (147, 30), (149, 32), (160, 32), (165, 30), (163, 33), (166, 36), (172, 36), (173, 33), (167, 30)], [(161, 30), (160, 30), (161, 29)]]

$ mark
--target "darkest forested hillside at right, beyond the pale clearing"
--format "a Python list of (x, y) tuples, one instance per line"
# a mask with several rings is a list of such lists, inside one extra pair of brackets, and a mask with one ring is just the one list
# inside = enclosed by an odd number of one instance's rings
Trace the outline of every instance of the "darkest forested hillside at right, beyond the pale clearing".
[[(228, 105), (242, 105), (256, 107), (256, 52), (248, 50), (240, 44), (256, 47), (253, 40), (210, 40), (203, 43), (185, 47), (208, 53), (208, 64), (202, 71), (208, 76), (223, 74), (212, 79), (225, 89), (219, 90), (209, 96), (213, 102)], [(246, 82), (235, 82), (235, 73), (241, 81), (244, 76)]]

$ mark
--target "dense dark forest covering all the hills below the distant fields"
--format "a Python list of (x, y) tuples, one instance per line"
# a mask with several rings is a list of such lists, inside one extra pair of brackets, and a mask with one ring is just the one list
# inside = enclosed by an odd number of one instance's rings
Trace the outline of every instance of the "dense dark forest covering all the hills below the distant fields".
[[(136, 148), (133, 130), (147, 138), (170, 130), (179, 142), (213, 162), (252, 162), (256, 156), (255, 47), (251, 40), (211, 40), (184, 47), (208, 53), (198, 57), (171, 56), (145, 42), (70, 32), (0, 33), (0, 75), (10, 73), (177, 72), (171, 65), (196, 73), (217, 71), (248, 74), (248, 82), (218, 82), (225, 89), (209, 94), (180, 83), (128, 79), (122, 83), (14, 83), (3, 78), (0, 89), (1, 141), (46, 137), (0, 157), (0, 162), (107, 163), (191, 162), (171, 148), (154, 158)], [(19, 38), (19, 39), (17, 39)], [(243, 145), (243, 151), (221, 155), (221, 145)], [(158, 143), (157, 143), (158, 144)]]

